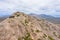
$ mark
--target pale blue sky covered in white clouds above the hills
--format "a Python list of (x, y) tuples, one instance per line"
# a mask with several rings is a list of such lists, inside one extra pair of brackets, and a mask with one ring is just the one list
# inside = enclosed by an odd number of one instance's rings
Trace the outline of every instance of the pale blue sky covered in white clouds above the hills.
[(60, 16), (60, 0), (0, 0), (0, 16), (16, 11)]

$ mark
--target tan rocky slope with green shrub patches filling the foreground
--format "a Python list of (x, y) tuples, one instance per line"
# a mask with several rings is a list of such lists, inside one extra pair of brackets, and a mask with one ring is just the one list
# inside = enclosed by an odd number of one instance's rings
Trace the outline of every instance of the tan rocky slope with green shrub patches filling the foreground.
[(60, 27), (16, 12), (0, 23), (0, 40), (60, 40)]

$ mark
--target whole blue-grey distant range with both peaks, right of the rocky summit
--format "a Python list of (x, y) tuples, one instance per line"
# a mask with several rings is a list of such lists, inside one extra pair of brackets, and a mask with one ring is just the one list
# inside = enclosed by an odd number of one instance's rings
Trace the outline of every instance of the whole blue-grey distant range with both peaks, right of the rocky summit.
[(45, 14), (40, 14), (40, 15), (30, 14), (30, 15), (38, 17), (38, 18), (43, 18), (43, 19), (50, 21), (52, 23), (55, 23), (55, 24), (60, 24), (60, 17), (53, 17), (51, 15), (45, 15)]

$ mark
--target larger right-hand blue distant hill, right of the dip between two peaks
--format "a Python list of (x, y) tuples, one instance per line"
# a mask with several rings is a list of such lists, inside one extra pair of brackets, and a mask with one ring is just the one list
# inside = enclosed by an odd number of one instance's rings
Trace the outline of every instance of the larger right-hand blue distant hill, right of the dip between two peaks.
[(59, 17), (53, 17), (53, 16), (50, 16), (50, 15), (39, 15), (39, 17), (42, 17), (52, 23), (55, 23), (55, 24), (60, 24), (60, 18)]

